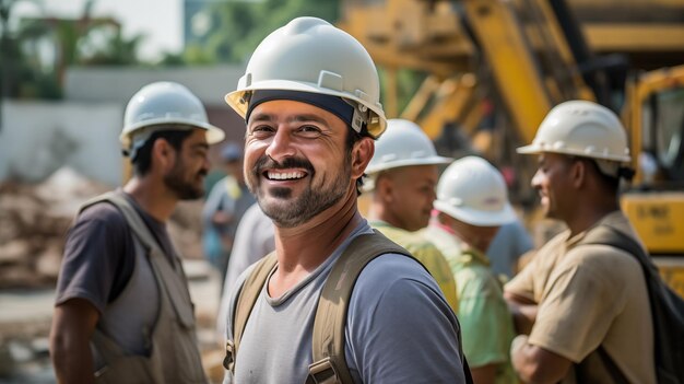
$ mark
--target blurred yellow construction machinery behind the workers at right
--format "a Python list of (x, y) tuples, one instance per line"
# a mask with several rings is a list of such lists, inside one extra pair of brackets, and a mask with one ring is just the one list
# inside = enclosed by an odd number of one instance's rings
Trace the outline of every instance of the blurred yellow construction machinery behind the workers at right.
[[(514, 149), (553, 105), (622, 112), (638, 171), (623, 207), (684, 296), (684, 67), (673, 67), (684, 61), (684, 1), (346, 0), (342, 14), (382, 68), (388, 117), (418, 123), (445, 154), (484, 155), (522, 206), (536, 200), (535, 166)], [(659, 67), (673, 68), (644, 72)], [(424, 80), (404, 107), (406, 70)]]

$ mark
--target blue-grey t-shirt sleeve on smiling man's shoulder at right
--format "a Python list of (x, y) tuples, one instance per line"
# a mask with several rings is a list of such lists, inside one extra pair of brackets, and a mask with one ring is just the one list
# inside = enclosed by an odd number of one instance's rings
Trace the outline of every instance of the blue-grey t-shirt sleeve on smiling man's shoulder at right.
[(363, 383), (464, 383), (458, 333), (427, 271), (382, 255), (364, 268), (350, 300), (347, 366)]

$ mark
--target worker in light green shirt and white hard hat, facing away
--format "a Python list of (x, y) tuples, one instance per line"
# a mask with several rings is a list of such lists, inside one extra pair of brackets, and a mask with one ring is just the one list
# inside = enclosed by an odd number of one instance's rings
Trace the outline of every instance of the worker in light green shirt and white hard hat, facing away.
[(463, 353), (476, 384), (516, 380), (508, 357), (512, 318), (484, 254), (499, 226), (514, 220), (502, 174), (486, 160), (467, 156), (439, 177), (435, 218), (423, 231), (447, 258), (457, 281)]

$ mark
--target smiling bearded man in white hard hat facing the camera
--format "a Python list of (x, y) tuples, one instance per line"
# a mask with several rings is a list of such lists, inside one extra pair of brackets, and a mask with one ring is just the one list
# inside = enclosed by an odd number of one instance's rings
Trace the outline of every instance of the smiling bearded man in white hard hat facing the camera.
[[(464, 381), (458, 321), (439, 287), (400, 255), (405, 249), (375, 234), (356, 207), (374, 138), (387, 124), (379, 93), (375, 65), (356, 39), (320, 19), (298, 18), (260, 43), (226, 95), (247, 124), (247, 185), (275, 225), (274, 254), (233, 290), (226, 382)], [(315, 360), (317, 325), (333, 326), (317, 318), (317, 306), (339, 304), (321, 291), (333, 276), (352, 288), (331, 270), (357, 265), (362, 254), (379, 256), (344, 301), (343, 340)]]

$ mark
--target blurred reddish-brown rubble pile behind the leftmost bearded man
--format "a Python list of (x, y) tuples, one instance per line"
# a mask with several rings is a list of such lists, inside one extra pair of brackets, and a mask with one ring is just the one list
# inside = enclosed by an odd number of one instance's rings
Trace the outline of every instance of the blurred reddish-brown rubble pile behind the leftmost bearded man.
[[(0, 183), (0, 289), (55, 287), (79, 207), (109, 189), (68, 167), (40, 184)], [(201, 257), (201, 205), (179, 205), (168, 223), (186, 257)]]

